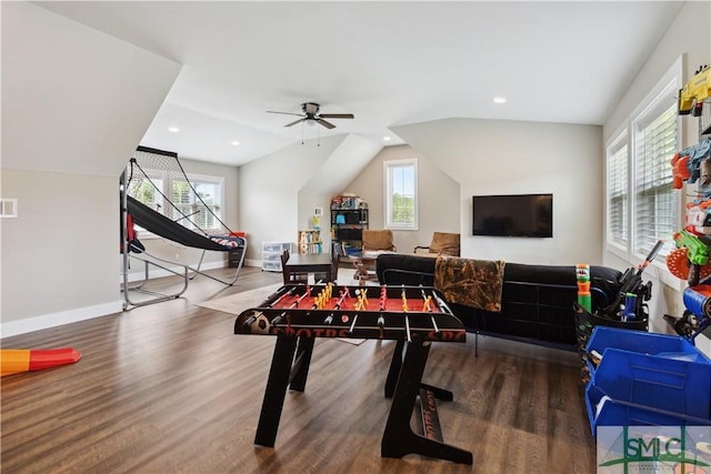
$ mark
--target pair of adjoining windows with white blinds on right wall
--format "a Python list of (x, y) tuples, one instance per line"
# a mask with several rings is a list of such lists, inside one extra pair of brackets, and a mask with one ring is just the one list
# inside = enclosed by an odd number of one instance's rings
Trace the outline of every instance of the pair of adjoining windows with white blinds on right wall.
[(663, 262), (681, 228), (681, 196), (670, 164), (680, 149), (681, 71), (680, 58), (607, 145), (605, 241), (630, 263), (643, 260), (660, 239), (658, 262)]

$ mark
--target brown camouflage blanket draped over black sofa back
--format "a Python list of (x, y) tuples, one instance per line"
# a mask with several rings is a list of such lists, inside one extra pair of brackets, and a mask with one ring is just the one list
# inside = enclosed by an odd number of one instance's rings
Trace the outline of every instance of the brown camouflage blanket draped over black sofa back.
[(440, 255), (434, 263), (434, 288), (448, 302), (501, 312), (502, 260), (472, 260)]

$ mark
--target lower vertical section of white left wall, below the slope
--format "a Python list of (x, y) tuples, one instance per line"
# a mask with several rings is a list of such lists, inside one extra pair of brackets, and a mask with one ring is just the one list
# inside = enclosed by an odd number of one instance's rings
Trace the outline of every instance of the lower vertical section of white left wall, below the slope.
[(19, 202), (18, 218), (1, 220), (2, 335), (120, 311), (117, 179), (0, 174)]

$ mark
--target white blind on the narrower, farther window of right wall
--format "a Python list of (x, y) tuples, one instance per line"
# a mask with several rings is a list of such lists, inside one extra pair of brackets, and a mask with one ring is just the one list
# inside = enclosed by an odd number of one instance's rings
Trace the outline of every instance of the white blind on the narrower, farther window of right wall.
[(627, 131), (608, 148), (608, 242), (628, 248), (629, 157)]

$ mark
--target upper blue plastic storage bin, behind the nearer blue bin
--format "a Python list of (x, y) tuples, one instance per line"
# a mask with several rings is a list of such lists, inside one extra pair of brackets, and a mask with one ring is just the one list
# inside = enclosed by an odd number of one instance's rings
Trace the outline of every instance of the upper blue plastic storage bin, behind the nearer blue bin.
[[(604, 351), (607, 349), (711, 364), (711, 360), (680, 335), (653, 334), (645, 331), (595, 326), (585, 350), (588, 352), (594, 350), (604, 359)], [(588, 369), (591, 375), (595, 372), (595, 366), (590, 361), (588, 361)]]

